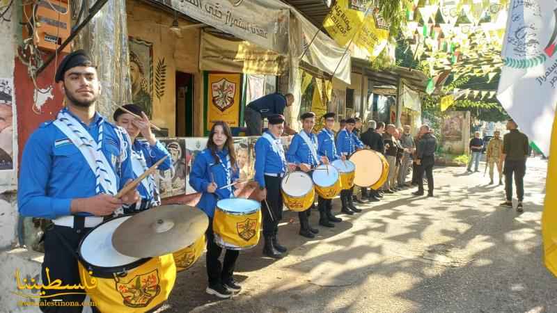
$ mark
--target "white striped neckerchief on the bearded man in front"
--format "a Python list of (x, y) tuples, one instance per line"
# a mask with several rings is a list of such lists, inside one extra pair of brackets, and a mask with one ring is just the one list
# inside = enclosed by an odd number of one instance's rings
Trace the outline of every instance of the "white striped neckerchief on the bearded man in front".
[[(65, 136), (70, 138), (70, 141), (72, 141), (72, 143), (79, 149), (79, 152), (81, 152), (86, 159), (89, 167), (97, 179), (95, 186), (96, 193), (99, 194), (104, 191), (106, 193), (110, 193), (111, 195), (116, 195), (116, 193), (118, 193), (116, 173), (107, 158), (104, 156), (104, 153), (102, 153), (102, 127), (104, 124), (104, 118), (101, 118), (99, 122), (99, 135), (97, 141), (95, 141), (93, 137), (91, 137), (91, 134), (84, 129), (81, 122), (68, 113), (67, 109), (62, 109), (53, 123), (65, 134)], [(118, 131), (116, 133), (118, 134)], [(123, 141), (120, 141), (120, 146), (123, 145)], [(121, 154), (120, 157), (122, 157)]]

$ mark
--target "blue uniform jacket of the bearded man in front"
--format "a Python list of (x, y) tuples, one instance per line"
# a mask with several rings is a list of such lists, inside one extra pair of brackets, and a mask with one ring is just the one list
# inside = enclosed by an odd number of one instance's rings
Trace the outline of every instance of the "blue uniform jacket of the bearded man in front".
[[(96, 139), (100, 121), (101, 116), (95, 113), (89, 126), (81, 125)], [(102, 153), (115, 170), (116, 183), (121, 189), (128, 179), (134, 179), (134, 172), (130, 147), (127, 147), (127, 158), (118, 163), (123, 143), (120, 143), (115, 129), (116, 125), (104, 122)], [(72, 199), (96, 195), (95, 187), (95, 173), (79, 149), (56, 125), (44, 123), (31, 134), (23, 150), (19, 170), (19, 214), (49, 219), (70, 215)]]

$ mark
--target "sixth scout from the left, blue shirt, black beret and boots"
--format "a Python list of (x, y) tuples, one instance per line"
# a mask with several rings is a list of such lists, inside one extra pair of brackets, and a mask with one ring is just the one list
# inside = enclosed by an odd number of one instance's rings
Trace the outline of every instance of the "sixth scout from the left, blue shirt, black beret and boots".
[[(329, 162), (336, 161), (338, 159), (346, 160), (346, 156), (344, 154), (338, 155), (338, 151), (336, 150), (335, 134), (333, 131), (333, 127), (335, 125), (335, 113), (326, 113), (323, 115), (323, 118), (325, 120), (325, 127), (321, 129), (319, 134), (317, 134), (317, 154), (319, 154), (320, 157), (327, 157)], [(333, 227), (334, 224), (331, 224), (331, 222), (339, 223), (342, 221), (342, 219), (335, 217), (331, 211), (333, 209), (332, 199), (319, 197), (318, 206), (319, 211), (324, 211), (325, 215), (320, 216), (319, 225)]]

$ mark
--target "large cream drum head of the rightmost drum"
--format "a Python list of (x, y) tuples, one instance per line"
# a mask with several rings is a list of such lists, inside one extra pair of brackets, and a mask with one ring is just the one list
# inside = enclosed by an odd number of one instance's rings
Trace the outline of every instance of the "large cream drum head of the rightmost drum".
[(360, 150), (352, 154), (350, 161), (356, 164), (354, 184), (369, 187), (381, 178), (383, 162), (379, 154), (373, 150)]

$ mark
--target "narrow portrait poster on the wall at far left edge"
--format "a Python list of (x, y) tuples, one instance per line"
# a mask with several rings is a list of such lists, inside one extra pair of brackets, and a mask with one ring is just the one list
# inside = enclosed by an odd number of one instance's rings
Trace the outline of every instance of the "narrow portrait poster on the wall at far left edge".
[(13, 81), (0, 78), (0, 170), (13, 169)]

